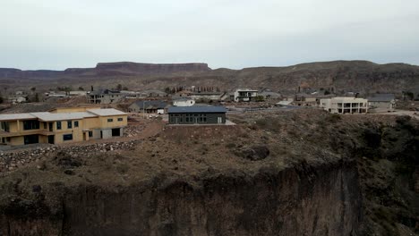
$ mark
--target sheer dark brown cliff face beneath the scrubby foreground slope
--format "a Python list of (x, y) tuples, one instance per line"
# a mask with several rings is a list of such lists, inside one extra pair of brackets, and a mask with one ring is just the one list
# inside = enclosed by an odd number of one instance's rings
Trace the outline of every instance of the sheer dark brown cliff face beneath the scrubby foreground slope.
[(218, 173), (199, 181), (160, 176), (115, 190), (58, 185), (55, 206), (40, 194), (15, 199), (0, 228), (4, 235), (354, 235), (360, 224), (353, 163)]

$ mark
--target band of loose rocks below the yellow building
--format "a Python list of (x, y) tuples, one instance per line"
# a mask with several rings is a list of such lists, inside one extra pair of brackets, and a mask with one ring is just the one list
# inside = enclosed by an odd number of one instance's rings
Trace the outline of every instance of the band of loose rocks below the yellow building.
[(131, 140), (127, 142), (97, 143), (89, 146), (72, 147), (37, 147), (31, 150), (14, 151), (10, 153), (0, 152), (0, 173), (10, 172), (17, 168), (38, 162), (48, 156), (54, 156), (59, 152), (67, 153), (70, 156), (83, 155), (86, 157), (94, 156), (98, 153), (105, 153), (115, 150), (133, 150), (141, 140)]

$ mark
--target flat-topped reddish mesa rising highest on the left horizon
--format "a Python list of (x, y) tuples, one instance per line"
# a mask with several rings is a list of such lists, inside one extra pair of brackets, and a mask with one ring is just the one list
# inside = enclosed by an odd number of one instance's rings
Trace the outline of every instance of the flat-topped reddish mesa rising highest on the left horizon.
[(170, 72), (209, 72), (207, 63), (98, 63), (98, 73), (122, 72), (133, 74)]

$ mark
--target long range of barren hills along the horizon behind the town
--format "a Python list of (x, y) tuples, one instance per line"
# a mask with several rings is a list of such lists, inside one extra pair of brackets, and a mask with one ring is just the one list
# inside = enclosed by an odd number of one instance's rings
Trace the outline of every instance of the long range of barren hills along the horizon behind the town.
[(211, 70), (205, 63), (150, 64), (98, 63), (96, 68), (64, 72), (0, 69), (0, 85), (11, 89), (56, 89), (56, 86), (130, 89), (164, 89), (176, 86), (269, 88), (295, 92), (298, 88), (361, 93), (419, 92), (419, 66), (366, 61), (304, 63), (287, 67)]

